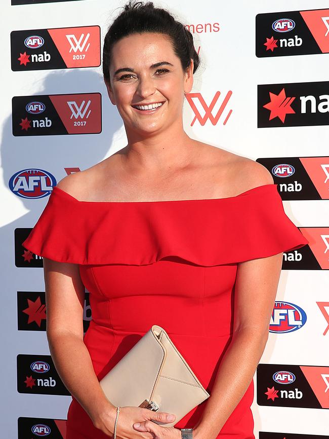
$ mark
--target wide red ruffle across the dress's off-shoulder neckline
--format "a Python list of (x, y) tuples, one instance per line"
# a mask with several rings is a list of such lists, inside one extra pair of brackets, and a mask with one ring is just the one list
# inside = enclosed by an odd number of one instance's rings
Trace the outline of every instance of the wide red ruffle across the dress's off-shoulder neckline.
[(172, 201), (79, 201), (54, 187), (23, 246), (54, 261), (200, 266), (264, 258), (308, 244), (285, 214), (277, 185), (237, 196)]

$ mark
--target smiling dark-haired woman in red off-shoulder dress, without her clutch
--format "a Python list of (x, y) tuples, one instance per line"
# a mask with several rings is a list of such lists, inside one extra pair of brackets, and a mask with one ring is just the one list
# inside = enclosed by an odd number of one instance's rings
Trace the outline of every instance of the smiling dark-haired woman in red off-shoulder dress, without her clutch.
[(103, 73), (128, 144), (63, 178), (24, 242), (44, 257), (49, 346), (73, 397), (67, 439), (113, 435), (116, 407), (99, 380), (155, 323), (211, 396), (173, 427), (152, 422), (170, 414), (122, 407), (116, 436), (255, 437), (253, 376), (282, 253), (308, 241), (266, 168), (184, 131), (198, 64), (191, 33), (168, 12), (125, 6), (105, 36)]

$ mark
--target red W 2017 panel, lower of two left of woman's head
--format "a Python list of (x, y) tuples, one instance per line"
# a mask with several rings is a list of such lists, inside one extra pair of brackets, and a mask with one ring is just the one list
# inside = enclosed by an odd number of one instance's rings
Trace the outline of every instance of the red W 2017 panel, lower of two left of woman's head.
[(56, 111), (69, 134), (100, 133), (100, 93), (50, 95)]

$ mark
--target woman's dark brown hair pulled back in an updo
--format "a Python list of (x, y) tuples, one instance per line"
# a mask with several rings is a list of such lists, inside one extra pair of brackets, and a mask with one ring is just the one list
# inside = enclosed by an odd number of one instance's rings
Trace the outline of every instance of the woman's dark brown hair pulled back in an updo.
[(130, 0), (110, 25), (104, 38), (103, 47), (103, 76), (110, 83), (109, 67), (111, 50), (118, 40), (133, 33), (163, 33), (169, 36), (175, 54), (181, 60), (182, 68), (186, 71), (193, 59), (193, 73), (200, 64), (200, 58), (194, 48), (193, 35), (186, 27), (165, 9), (155, 8), (152, 2), (136, 2)]

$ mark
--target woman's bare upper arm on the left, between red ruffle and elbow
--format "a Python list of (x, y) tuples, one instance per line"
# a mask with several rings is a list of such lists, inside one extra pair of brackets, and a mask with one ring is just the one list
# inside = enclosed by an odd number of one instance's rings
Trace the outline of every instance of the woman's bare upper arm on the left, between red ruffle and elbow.
[(46, 287), (47, 337), (70, 332), (84, 336), (85, 286), (79, 266), (43, 259)]

